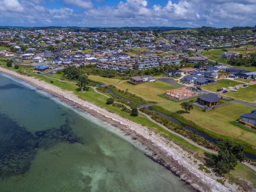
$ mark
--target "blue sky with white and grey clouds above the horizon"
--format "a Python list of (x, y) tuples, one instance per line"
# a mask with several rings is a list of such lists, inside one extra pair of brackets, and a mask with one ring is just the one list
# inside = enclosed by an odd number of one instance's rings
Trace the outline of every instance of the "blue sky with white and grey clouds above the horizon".
[(0, 0), (0, 26), (256, 25), (256, 0)]

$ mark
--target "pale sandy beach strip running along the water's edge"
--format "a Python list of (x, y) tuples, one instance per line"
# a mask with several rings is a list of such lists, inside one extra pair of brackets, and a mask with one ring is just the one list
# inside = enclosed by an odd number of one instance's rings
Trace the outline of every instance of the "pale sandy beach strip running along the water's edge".
[[(197, 191), (237, 191), (238, 186), (231, 185), (226, 182), (227, 186), (223, 186), (216, 179), (213, 173), (205, 173), (198, 169), (198, 164), (193, 162), (193, 154), (187, 152), (179, 145), (171, 140), (167, 140), (160, 136), (159, 133), (148, 129), (141, 124), (135, 123), (124, 117), (108, 112), (107, 109), (101, 108), (90, 101), (78, 98), (72, 91), (62, 90), (61, 88), (48, 84), (44, 81), (39, 81), (34, 77), (28, 77), (18, 74), (15, 71), (0, 67), (0, 72), (7, 75), (19, 78), (33, 86), (49, 92), (60, 99), (79, 107), (82, 111), (86, 111), (101, 121), (108, 122), (119, 130), (129, 135), (133, 140), (138, 140), (145, 148), (152, 151), (153, 156), (146, 156), (151, 158), (158, 164), (161, 164), (175, 175), (179, 176), (181, 180), (185, 181), (188, 185), (192, 186)], [(203, 164), (203, 163), (202, 163)]]

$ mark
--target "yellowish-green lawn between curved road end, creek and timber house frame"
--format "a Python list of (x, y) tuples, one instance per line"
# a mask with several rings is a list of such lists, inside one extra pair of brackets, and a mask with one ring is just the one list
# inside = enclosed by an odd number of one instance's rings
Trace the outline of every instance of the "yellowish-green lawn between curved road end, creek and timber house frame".
[(135, 94), (139, 97), (142, 97), (144, 100), (156, 101), (156, 102), (167, 101), (166, 99), (157, 96), (158, 94), (162, 94), (170, 89), (180, 88), (180, 86), (178, 85), (172, 85), (162, 81), (147, 82), (147, 83), (142, 83), (138, 85), (127, 83), (127, 81), (121, 81), (115, 86), (118, 89), (121, 89), (124, 91), (128, 89), (128, 92)]

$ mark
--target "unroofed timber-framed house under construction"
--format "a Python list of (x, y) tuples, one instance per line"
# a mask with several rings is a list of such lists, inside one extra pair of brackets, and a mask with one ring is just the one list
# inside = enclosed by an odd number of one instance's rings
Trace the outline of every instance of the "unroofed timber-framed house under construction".
[(181, 87), (179, 89), (172, 89), (166, 91), (166, 97), (183, 100), (195, 96), (191, 87)]

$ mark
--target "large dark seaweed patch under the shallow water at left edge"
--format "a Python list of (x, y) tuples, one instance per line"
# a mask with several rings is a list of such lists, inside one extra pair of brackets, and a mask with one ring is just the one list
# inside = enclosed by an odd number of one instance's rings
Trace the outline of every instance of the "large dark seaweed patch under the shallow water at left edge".
[(72, 132), (68, 119), (59, 129), (38, 131), (35, 135), (1, 113), (0, 123), (0, 178), (27, 172), (38, 148), (47, 149), (61, 141), (83, 143)]

